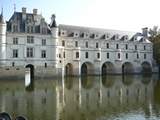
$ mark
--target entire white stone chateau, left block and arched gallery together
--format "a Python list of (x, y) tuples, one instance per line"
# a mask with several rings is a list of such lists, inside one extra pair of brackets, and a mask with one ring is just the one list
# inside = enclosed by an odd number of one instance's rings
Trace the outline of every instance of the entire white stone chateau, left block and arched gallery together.
[(134, 74), (154, 72), (147, 28), (142, 33), (48, 24), (37, 9), (0, 15), (0, 76)]

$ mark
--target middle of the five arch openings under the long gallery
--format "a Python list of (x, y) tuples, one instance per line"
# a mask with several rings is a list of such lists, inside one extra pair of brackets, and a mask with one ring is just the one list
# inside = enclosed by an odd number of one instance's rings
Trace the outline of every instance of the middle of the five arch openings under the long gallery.
[(102, 75), (113, 74), (114, 64), (111, 62), (105, 62), (102, 65)]

